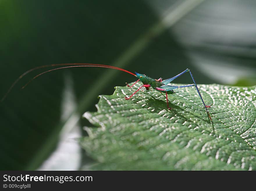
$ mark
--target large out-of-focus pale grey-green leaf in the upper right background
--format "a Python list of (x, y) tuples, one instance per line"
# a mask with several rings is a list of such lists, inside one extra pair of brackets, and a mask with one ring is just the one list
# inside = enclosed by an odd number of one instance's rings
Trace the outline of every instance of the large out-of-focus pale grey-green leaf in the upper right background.
[[(150, 4), (162, 16), (173, 1), (150, 0)], [(205, 0), (169, 31), (195, 68), (214, 83), (234, 85), (256, 73), (255, 8), (254, 0)]]

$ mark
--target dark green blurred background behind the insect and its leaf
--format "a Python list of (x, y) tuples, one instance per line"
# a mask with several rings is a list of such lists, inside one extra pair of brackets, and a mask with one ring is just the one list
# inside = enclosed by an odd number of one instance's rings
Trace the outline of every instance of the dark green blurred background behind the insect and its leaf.
[[(33, 67), (97, 63), (153, 78), (190, 68), (197, 83), (256, 84), (255, 0), (0, 1), (3, 96)], [(0, 169), (90, 169), (77, 138), (99, 94), (134, 76), (105, 68), (58, 70), (1, 103)], [(176, 83), (191, 83), (184, 74)]]

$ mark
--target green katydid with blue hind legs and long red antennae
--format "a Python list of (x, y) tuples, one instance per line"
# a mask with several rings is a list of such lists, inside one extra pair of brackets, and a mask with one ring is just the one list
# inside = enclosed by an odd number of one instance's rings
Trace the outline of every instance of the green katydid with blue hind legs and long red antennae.
[[(210, 120), (211, 119), (211, 116), (209, 114), (209, 111), (207, 108), (210, 108), (211, 106), (210, 105), (205, 105), (205, 102), (200, 94), (200, 91), (197, 87), (197, 84), (195, 83), (195, 79), (191, 73), (191, 71), (189, 69), (186, 69), (184, 70), (183, 72), (181, 72), (180, 74), (172, 77), (172, 78), (168, 78), (166, 80), (162, 80), (162, 78), (159, 78), (158, 80), (157, 79), (154, 79), (154, 78), (151, 78), (149, 76), (146, 76), (145, 74), (139, 74), (137, 72), (132, 73), (132, 72), (129, 72), (125, 69), (122, 69), (122, 68), (118, 68), (118, 67), (115, 67), (115, 66), (109, 66), (109, 65), (102, 65), (102, 64), (78, 64), (78, 63), (72, 63), (72, 64), (52, 64), (52, 65), (43, 65), (43, 66), (39, 66), (39, 67), (35, 67), (33, 69), (30, 69), (26, 72), (24, 72), (21, 76), (19, 76), (19, 78), (16, 79), (16, 81), (11, 85), (11, 87), (9, 88), (9, 90), (7, 91), (7, 93), (4, 95), (4, 97), (1, 99), (1, 101), (3, 101), (6, 96), (9, 94), (10, 90), (13, 88), (13, 86), (23, 77), (25, 76), (26, 74), (28, 74), (29, 72), (32, 72), (36, 69), (40, 69), (40, 68), (45, 68), (45, 67), (54, 67), (54, 66), (63, 66), (63, 67), (59, 67), (59, 68), (54, 68), (54, 69), (51, 69), (51, 70), (47, 70), (45, 72), (42, 72), (38, 75), (36, 75), (34, 78), (32, 78), (26, 85), (24, 85), (22, 88), (25, 88), (33, 79), (41, 76), (42, 74), (45, 74), (47, 72), (51, 72), (51, 71), (54, 71), (54, 70), (58, 70), (58, 69), (64, 69), (64, 68), (71, 68), (71, 67), (103, 67), (103, 68), (110, 68), (110, 69), (116, 69), (116, 70), (120, 70), (120, 71), (123, 71), (123, 72), (127, 72), (129, 74), (132, 74), (134, 76), (136, 76), (138, 78), (138, 80), (132, 84), (131, 86), (127, 84), (128, 87), (132, 87), (134, 86), (138, 81), (141, 81), (143, 83), (143, 85), (141, 85), (133, 94), (131, 94), (129, 97), (125, 97), (125, 99), (130, 99), (131, 97), (134, 96), (134, 94), (136, 94), (141, 88), (145, 87), (146, 90), (149, 90), (149, 88), (153, 88), (157, 91), (160, 91), (160, 92), (165, 92), (166, 93), (166, 103), (167, 103), (167, 108), (168, 109), (171, 109), (169, 107), (169, 103), (168, 103), (168, 93), (167, 92), (174, 92), (173, 90), (174, 89), (177, 89), (177, 88), (185, 88), (185, 87), (191, 87), (191, 86), (195, 86), (195, 89), (196, 91), (198, 92), (198, 95), (200, 97), (200, 99), (202, 100), (202, 103), (205, 107), (205, 111), (209, 117)], [(65, 66), (65, 67), (64, 67)], [(191, 78), (193, 80), (193, 84), (189, 84), (189, 85), (182, 85), (182, 86), (175, 86), (175, 85), (168, 85), (168, 83), (170, 83), (171, 81), (173, 81), (175, 78), (181, 76), (182, 74), (186, 73), (186, 72), (189, 72), (189, 74), (191, 75)]]

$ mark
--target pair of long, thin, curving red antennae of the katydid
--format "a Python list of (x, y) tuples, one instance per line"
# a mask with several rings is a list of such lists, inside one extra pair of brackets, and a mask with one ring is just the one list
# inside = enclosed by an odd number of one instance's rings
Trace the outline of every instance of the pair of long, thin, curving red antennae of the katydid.
[[(73, 65), (73, 66), (67, 66), (67, 65)], [(24, 72), (22, 75), (19, 76), (19, 78), (17, 78), (13, 84), (10, 86), (10, 88), (8, 89), (8, 91), (6, 92), (6, 94), (3, 96), (3, 98), (1, 99), (1, 102), (6, 98), (6, 96), (10, 93), (10, 91), (13, 89), (14, 85), (21, 79), (23, 78), (26, 74), (36, 70), (36, 69), (40, 69), (40, 68), (45, 68), (45, 67), (53, 67), (53, 66), (67, 66), (67, 67), (60, 67), (60, 68), (55, 68), (55, 69), (51, 69), (51, 70), (48, 70), (48, 71), (45, 71), (45, 72), (42, 72), (38, 75), (36, 75), (34, 78), (32, 78), (28, 83), (26, 83), (26, 85), (24, 85), (22, 88), (25, 88), (33, 79), (37, 78), (38, 76), (41, 76), (42, 74), (45, 74), (47, 72), (51, 72), (51, 71), (54, 71), (54, 70), (58, 70), (58, 69), (64, 69), (64, 68), (72, 68), (72, 67), (102, 67), (102, 68), (110, 68), (110, 69), (117, 69), (117, 70), (120, 70), (120, 71), (123, 71), (123, 72), (127, 72), (129, 74), (132, 74), (134, 76), (136, 76), (135, 74), (133, 74), (132, 72), (129, 72), (125, 69), (122, 69), (122, 68), (118, 68), (118, 67), (115, 67), (115, 66), (109, 66), (109, 65), (103, 65), (103, 64), (79, 64), (79, 63), (69, 63), (69, 64), (51, 64), (51, 65), (43, 65), (43, 66), (38, 66), (38, 67), (35, 67), (35, 68), (32, 68), (26, 72)]]

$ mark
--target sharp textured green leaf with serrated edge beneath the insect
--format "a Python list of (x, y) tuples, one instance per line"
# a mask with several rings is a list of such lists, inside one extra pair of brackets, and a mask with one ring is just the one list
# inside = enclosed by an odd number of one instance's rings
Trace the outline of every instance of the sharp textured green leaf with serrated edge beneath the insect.
[(100, 96), (93, 125), (81, 140), (97, 170), (256, 170), (256, 86), (199, 85), (181, 88), (168, 99), (156, 90), (116, 87)]

